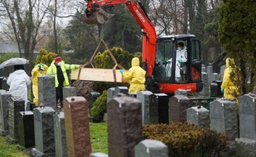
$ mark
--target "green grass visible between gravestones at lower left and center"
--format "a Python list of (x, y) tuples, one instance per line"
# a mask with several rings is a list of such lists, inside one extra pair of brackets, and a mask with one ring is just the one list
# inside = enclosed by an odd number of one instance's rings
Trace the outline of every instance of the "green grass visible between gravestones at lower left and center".
[[(90, 122), (90, 141), (92, 144), (92, 152), (102, 152), (108, 154), (108, 134), (107, 123)], [(1, 157), (28, 157), (17, 148), (18, 144), (7, 144), (5, 137), (0, 136), (0, 156)]]

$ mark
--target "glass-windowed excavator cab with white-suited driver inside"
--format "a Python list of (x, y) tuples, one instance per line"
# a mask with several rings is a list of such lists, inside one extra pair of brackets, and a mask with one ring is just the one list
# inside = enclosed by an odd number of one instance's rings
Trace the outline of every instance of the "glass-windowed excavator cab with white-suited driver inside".
[[(181, 49), (182, 47), (182, 49)], [(199, 92), (201, 60), (199, 41), (194, 35), (167, 35), (156, 42), (153, 71), (159, 92), (174, 93), (176, 89)]]

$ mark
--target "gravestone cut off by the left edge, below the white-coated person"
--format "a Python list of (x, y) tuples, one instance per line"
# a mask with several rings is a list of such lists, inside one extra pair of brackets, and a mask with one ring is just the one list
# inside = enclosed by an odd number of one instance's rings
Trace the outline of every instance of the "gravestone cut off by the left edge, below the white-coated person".
[(0, 135), (6, 136), (9, 133), (9, 98), (11, 93), (0, 93), (1, 117), (2, 125), (0, 125)]

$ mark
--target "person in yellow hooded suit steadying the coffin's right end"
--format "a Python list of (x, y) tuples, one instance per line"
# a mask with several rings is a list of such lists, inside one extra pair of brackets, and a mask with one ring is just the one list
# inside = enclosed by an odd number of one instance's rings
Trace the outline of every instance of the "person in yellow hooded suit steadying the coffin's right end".
[(138, 57), (133, 57), (132, 68), (129, 71), (120, 70), (123, 75), (123, 79), (130, 81), (129, 93), (138, 93), (144, 90), (145, 74), (143, 68), (140, 67), (140, 60)]

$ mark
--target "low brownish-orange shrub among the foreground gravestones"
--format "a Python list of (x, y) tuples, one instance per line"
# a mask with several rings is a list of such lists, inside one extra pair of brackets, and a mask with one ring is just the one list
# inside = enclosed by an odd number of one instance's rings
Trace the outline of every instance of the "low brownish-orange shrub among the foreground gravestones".
[(228, 137), (187, 122), (143, 126), (144, 139), (162, 141), (169, 156), (221, 156), (228, 149)]

